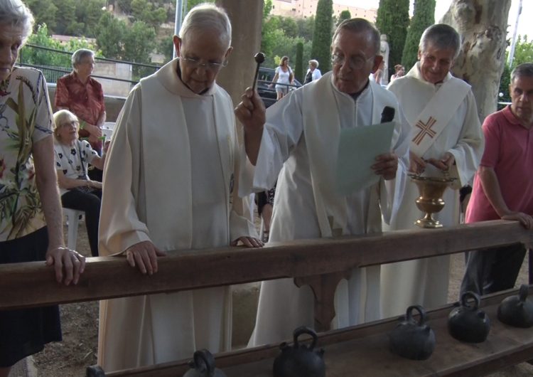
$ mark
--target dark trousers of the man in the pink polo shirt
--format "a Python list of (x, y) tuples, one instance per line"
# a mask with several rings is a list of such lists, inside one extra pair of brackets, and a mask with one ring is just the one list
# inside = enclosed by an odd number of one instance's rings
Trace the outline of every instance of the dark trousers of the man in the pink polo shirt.
[(522, 243), (470, 251), (466, 257), (461, 294), (472, 291), (483, 295), (515, 287), (525, 255), (526, 248)]

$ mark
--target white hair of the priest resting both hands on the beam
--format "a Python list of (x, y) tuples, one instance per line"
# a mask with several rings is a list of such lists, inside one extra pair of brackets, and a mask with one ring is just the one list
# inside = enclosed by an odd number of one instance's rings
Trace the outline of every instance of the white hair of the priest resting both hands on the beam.
[(181, 24), (180, 38), (185, 38), (185, 35), (192, 31), (205, 29), (216, 31), (220, 35), (220, 40), (230, 47), (232, 24), (224, 9), (209, 3), (199, 4), (190, 9)]

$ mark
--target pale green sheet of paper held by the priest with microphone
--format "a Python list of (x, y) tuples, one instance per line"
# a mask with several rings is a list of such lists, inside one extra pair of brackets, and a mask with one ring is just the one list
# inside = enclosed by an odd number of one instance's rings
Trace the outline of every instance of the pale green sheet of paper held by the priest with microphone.
[(340, 130), (337, 157), (337, 192), (341, 195), (376, 184), (379, 176), (370, 166), (376, 156), (391, 152), (394, 122)]

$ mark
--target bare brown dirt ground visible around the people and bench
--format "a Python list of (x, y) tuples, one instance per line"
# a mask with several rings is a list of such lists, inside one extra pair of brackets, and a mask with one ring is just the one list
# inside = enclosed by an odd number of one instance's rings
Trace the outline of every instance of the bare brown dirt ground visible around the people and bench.
[[(66, 228), (65, 228), (66, 239)], [(90, 256), (85, 223), (80, 223), (77, 250)], [(448, 302), (456, 301), (464, 272), (463, 254), (452, 255), (450, 289)], [(517, 286), (527, 283), (527, 260), (524, 261)], [(238, 308), (234, 308), (237, 314)], [(48, 344), (45, 349), (33, 356), (38, 377), (80, 377), (85, 376), (85, 368), (97, 362), (98, 302), (65, 304), (60, 307), (63, 341)], [(492, 377), (533, 376), (533, 366), (519, 364), (506, 371), (494, 373)]]

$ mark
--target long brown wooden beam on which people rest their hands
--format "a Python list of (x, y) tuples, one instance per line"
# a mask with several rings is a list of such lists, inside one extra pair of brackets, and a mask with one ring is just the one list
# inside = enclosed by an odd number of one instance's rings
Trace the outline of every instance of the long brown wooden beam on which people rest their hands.
[(295, 240), (261, 249), (170, 252), (159, 258), (159, 271), (152, 276), (129, 267), (124, 257), (95, 257), (87, 258), (85, 273), (75, 287), (58, 285), (53, 269), (44, 262), (0, 265), (0, 310), (322, 275), (517, 242), (533, 243), (533, 232), (514, 221), (488, 221), (431, 230)]

